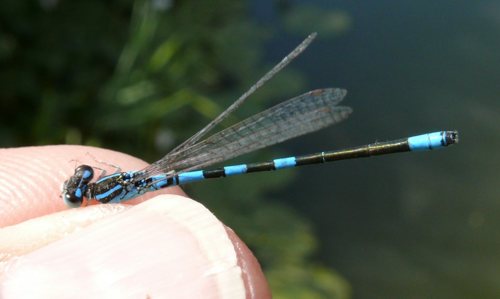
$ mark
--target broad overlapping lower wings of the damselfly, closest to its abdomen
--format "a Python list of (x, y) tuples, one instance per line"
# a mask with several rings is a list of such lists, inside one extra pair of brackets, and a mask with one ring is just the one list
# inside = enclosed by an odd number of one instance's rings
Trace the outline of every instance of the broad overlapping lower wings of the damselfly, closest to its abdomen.
[(338, 123), (352, 112), (337, 106), (346, 93), (337, 88), (318, 89), (282, 102), (167, 154), (146, 167), (143, 176), (200, 169)]

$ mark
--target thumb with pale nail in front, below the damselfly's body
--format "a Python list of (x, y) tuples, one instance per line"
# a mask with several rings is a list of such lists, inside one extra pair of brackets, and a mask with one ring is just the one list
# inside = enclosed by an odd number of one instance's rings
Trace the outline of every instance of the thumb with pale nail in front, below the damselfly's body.
[(2, 292), (12, 298), (27, 291), (61, 297), (75, 289), (87, 298), (266, 298), (262, 290), (268, 292), (257, 261), (234, 233), (201, 204), (172, 195), (100, 220), (9, 269)]

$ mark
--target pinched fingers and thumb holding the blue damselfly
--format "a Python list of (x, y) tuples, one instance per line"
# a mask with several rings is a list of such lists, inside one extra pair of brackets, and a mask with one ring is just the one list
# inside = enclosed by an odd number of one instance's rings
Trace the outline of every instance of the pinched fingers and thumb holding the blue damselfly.
[(0, 150), (1, 298), (271, 297), (247, 246), (180, 188), (66, 207), (62, 183), (94, 157), (147, 165), (84, 146)]

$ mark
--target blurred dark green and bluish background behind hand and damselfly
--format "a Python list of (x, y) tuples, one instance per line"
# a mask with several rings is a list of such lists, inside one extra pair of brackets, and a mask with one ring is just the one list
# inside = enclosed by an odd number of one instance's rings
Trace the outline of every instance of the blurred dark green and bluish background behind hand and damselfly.
[(349, 121), (238, 161), (458, 129), (458, 146), (194, 184), (275, 298), (500, 297), (499, 1), (0, 2), (0, 145), (162, 157), (307, 34), (227, 123), (321, 87)]

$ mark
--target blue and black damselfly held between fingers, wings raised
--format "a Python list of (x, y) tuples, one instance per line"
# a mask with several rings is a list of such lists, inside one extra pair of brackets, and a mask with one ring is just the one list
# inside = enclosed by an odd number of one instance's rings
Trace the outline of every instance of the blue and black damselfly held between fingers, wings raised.
[(315, 37), (315, 33), (309, 35), (218, 117), (146, 168), (116, 172), (92, 182), (94, 168), (88, 165), (78, 166), (63, 184), (62, 197), (65, 203), (69, 207), (80, 207), (92, 199), (100, 203), (118, 203), (149, 191), (205, 179), (397, 152), (432, 150), (458, 142), (457, 131), (440, 131), (349, 149), (203, 170), (204, 167), (215, 163), (320, 130), (348, 118), (352, 109), (338, 105), (346, 96), (346, 90), (317, 89), (284, 101), (202, 139), (255, 90), (300, 55)]

